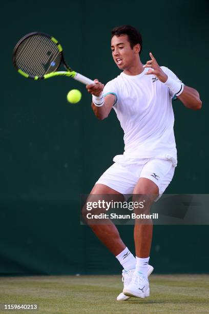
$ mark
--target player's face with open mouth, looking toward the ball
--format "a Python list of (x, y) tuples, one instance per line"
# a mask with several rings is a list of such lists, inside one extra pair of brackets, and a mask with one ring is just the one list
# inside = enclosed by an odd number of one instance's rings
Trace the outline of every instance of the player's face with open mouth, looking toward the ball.
[(111, 50), (113, 59), (120, 70), (126, 70), (132, 66), (138, 54), (135, 49), (131, 49), (127, 35), (113, 36)]

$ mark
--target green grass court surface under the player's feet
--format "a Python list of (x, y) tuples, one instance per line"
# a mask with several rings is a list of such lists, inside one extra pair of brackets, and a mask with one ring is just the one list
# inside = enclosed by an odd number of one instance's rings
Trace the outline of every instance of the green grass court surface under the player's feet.
[[(31, 276), (0, 279), (1, 313), (209, 313), (209, 275), (151, 275), (151, 296), (116, 301), (120, 276)], [(37, 304), (38, 310), (3, 310)]]

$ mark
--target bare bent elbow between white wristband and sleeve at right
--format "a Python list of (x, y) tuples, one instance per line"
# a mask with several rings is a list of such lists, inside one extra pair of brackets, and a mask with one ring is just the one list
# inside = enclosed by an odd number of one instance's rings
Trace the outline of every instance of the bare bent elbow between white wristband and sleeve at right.
[(201, 109), (202, 102), (198, 91), (192, 87), (184, 86), (183, 92), (177, 98), (185, 107), (193, 110)]

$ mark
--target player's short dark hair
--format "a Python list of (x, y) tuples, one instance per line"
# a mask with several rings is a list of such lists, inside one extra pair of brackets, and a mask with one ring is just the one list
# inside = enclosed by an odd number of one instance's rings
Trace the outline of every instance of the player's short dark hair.
[(139, 44), (140, 45), (139, 55), (141, 54), (142, 37), (141, 37), (141, 34), (139, 33), (139, 31), (135, 27), (133, 27), (131, 25), (117, 26), (117, 27), (112, 29), (111, 38), (115, 35), (116, 36), (127, 35), (129, 38), (131, 49), (133, 49), (133, 47), (135, 45)]

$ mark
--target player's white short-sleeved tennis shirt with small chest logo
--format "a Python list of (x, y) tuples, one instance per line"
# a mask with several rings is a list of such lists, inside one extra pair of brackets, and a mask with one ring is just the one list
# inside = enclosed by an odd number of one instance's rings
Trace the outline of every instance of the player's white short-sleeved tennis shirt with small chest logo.
[[(161, 69), (178, 82), (179, 78), (168, 68)], [(124, 131), (124, 156), (128, 158), (159, 158), (177, 165), (174, 136), (174, 112), (171, 90), (155, 75), (120, 73), (103, 90), (113, 93), (113, 106)]]

